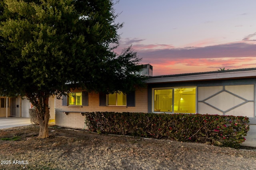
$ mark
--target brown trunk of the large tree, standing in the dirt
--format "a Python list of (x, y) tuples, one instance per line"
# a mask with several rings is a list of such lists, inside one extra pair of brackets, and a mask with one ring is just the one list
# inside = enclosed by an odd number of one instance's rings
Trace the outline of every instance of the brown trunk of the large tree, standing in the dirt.
[[(40, 101), (42, 101), (43, 103), (40, 104)], [(48, 138), (48, 122), (50, 119), (49, 97), (42, 97), (42, 100), (38, 100), (38, 102), (38, 106), (41, 107), (37, 108), (40, 127), (38, 138)]]

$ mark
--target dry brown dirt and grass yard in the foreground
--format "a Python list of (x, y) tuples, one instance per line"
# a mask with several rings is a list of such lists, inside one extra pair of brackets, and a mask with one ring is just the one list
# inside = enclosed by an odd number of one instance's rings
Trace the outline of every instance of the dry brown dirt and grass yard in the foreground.
[(170, 140), (98, 135), (36, 125), (0, 129), (0, 170), (254, 170), (255, 148), (244, 150)]

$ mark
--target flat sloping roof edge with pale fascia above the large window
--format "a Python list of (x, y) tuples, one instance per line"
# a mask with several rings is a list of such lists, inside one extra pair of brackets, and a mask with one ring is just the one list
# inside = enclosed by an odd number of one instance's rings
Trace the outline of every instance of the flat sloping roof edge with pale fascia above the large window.
[(148, 77), (146, 83), (183, 82), (234, 78), (256, 78), (256, 68), (242, 68), (235, 70), (221, 70), (210, 72), (195, 72), (186, 74), (172, 74)]

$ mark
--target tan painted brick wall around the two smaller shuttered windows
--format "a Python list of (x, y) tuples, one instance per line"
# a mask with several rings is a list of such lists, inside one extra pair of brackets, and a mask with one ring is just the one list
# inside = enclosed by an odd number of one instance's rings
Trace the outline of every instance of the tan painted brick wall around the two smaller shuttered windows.
[[(55, 124), (63, 127), (84, 128), (84, 118), (79, 112), (95, 112), (95, 111), (114, 111), (114, 112), (148, 112), (148, 93), (147, 89), (140, 89), (135, 92), (135, 107), (125, 106), (99, 106), (100, 97), (97, 93), (88, 94), (88, 106), (62, 106), (62, 100), (55, 101)], [(78, 113), (68, 113), (64, 111)]]

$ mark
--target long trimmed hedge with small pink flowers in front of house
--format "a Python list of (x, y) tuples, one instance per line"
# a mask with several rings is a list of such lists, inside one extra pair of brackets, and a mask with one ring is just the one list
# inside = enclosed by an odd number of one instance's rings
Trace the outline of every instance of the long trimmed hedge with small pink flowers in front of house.
[(86, 113), (90, 131), (238, 148), (249, 131), (242, 116), (154, 113)]

